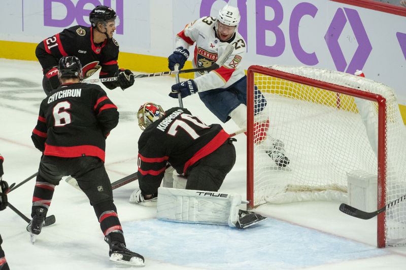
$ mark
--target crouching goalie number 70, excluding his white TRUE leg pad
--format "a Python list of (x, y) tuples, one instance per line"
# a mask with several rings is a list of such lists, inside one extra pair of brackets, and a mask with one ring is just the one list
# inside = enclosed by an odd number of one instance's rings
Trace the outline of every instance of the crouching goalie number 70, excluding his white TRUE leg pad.
[(235, 163), (232, 139), (220, 125), (207, 126), (185, 108), (163, 112), (150, 102), (140, 107), (138, 120), (145, 129), (138, 140), (140, 189), (130, 202), (157, 197), (167, 164), (187, 177), (186, 189), (219, 190)]

